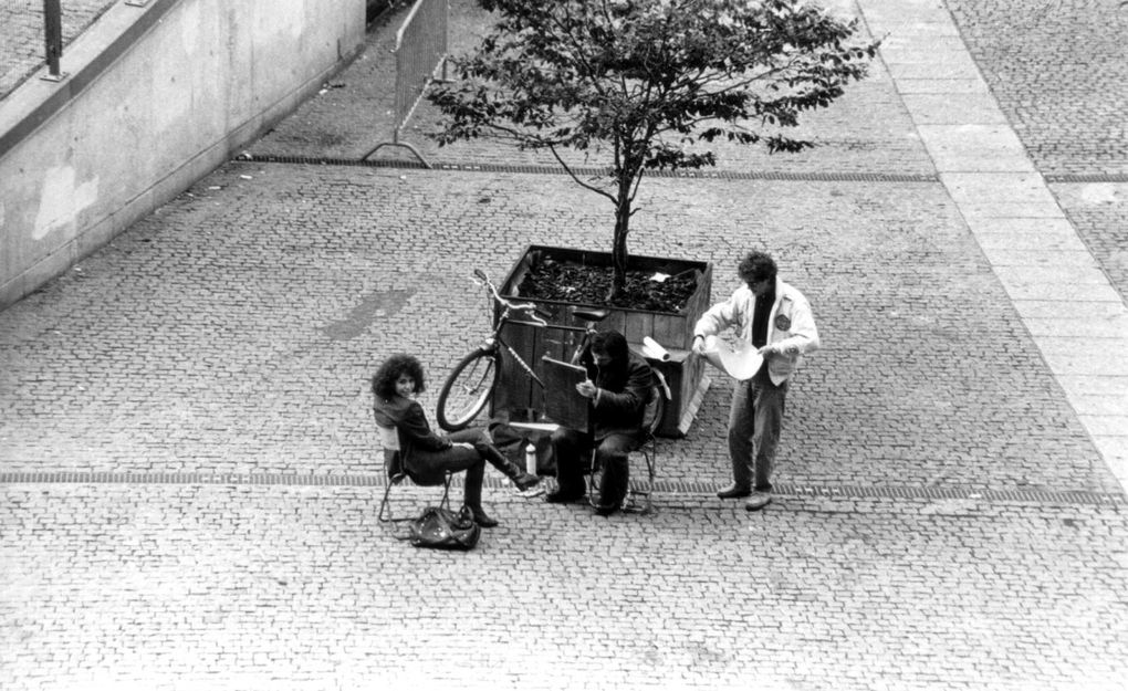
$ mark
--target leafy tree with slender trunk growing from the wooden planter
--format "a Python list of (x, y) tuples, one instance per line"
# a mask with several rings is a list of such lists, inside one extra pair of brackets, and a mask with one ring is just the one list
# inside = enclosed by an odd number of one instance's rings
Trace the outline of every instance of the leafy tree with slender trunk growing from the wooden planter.
[[(615, 206), (610, 299), (623, 290), (634, 200), (647, 170), (714, 166), (717, 140), (769, 152), (812, 143), (785, 135), (866, 74), (878, 44), (799, 0), (479, 0), (496, 12), (453, 82), (429, 94), (440, 144), (478, 136), (547, 149)], [(561, 157), (607, 147), (605, 178)]]

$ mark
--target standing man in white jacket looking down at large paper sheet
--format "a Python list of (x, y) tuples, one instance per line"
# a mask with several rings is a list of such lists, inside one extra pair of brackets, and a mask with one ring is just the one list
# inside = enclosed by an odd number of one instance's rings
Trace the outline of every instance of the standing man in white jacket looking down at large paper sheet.
[(770, 255), (749, 253), (737, 268), (744, 285), (710, 308), (694, 327), (694, 351), (698, 354), (706, 336), (733, 327), (764, 356), (756, 374), (738, 381), (733, 389), (729, 413), (732, 485), (716, 493), (722, 499), (751, 496), (744, 504), (748, 511), (759, 511), (772, 502), (772, 466), (783, 428), (787, 380), (802, 356), (819, 347), (810, 303), (781, 281), (776, 271)]

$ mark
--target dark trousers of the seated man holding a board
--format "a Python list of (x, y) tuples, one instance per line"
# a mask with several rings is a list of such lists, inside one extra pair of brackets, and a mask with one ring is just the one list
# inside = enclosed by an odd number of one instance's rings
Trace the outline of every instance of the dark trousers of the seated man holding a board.
[(594, 446), (596, 462), (603, 469), (598, 502), (605, 506), (623, 503), (631, 481), (628, 457), (638, 446), (635, 435), (613, 433), (597, 441), (592, 434), (562, 427), (553, 432), (552, 441), (561, 494), (583, 496), (583, 473), (591, 470)]

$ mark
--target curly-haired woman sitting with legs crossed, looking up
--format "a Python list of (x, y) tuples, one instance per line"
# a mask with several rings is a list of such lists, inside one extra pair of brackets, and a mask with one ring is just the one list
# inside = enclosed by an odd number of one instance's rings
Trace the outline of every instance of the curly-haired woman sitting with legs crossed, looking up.
[(415, 400), (423, 388), (423, 365), (416, 357), (388, 357), (372, 376), (376, 424), (398, 429), (399, 454), (404, 459), (404, 470), (413, 481), (438, 485), (446, 472), (465, 470), (462, 500), (474, 512), (474, 522), (482, 528), (497, 525), (497, 521), (482, 508), (482, 479), (486, 461), (522, 491), (539, 482), (540, 478), (510, 461), (481, 429), (462, 429), (450, 436), (432, 432), (423, 406)]

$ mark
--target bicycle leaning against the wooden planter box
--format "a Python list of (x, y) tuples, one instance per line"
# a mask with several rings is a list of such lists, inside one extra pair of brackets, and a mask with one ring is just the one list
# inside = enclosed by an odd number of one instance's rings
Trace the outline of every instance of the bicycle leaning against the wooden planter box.
[[(497, 292), (497, 286), (494, 285), (490, 276), (481, 268), (474, 269), (473, 281), (478, 286), (485, 286), (492, 300), (491, 304), (496, 302), (502, 307), (502, 311), (494, 321), (493, 333), (455, 365), (455, 369), (451, 370), (447, 376), (447, 381), (442, 384), (442, 389), (439, 391), (435, 418), (439, 422), (439, 426), (448, 432), (465, 428), (482, 413), (486, 404), (490, 402), (497, 387), (497, 373), (501, 370), (503, 351), (509, 353), (513, 362), (525, 370), (526, 374), (532, 378), (532, 381), (540, 386), (541, 391), (545, 389), (545, 382), (540, 381), (540, 378), (532, 371), (532, 367), (525, 362), (512, 346), (505, 343), (502, 331), (506, 324), (546, 328), (549, 324), (545, 319), (550, 317), (550, 315), (541, 311), (535, 303), (513, 302), (502, 296)], [(576, 364), (580, 361), (580, 355), (587, 348), (592, 334), (596, 333), (594, 325), (606, 319), (610, 311), (574, 307), (571, 309), (571, 312), (576, 318), (582, 319), (585, 326), (582, 328), (556, 328), (570, 331), (583, 331), (583, 337), (580, 339), (579, 345), (576, 345), (571, 358), (572, 364)]]

